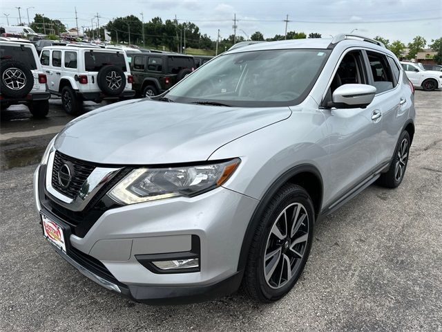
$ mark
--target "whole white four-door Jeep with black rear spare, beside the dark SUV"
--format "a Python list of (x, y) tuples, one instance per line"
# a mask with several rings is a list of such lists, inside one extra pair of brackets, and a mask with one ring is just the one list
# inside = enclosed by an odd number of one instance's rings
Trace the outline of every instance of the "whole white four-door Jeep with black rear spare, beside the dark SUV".
[(61, 96), (68, 114), (81, 111), (84, 100), (132, 98), (133, 77), (124, 51), (94, 46), (49, 46), (40, 55), (49, 91)]

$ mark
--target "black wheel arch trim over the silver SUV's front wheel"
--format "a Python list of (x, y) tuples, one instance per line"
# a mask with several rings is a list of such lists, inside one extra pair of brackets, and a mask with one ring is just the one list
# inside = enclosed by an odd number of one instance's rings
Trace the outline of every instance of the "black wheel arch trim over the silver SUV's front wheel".
[(258, 203), (251, 219), (249, 225), (247, 225), (247, 230), (242, 239), (242, 246), (240, 251), (240, 257), (238, 259), (238, 271), (244, 270), (247, 264), (247, 257), (249, 256), (249, 249), (253, 239), (253, 234), (258, 227), (260, 216), (264, 212), (265, 207), (271, 200), (271, 198), (280, 190), (280, 188), (286, 183), (293, 183), (303, 187), (311, 197), (313, 201), (315, 216), (317, 217), (320, 213), (321, 206), (323, 203), (323, 178), (320, 175), (319, 170), (311, 164), (297, 165), (287, 172), (282, 174), (276, 181), (274, 181), (270, 187), (265, 192), (264, 196)]

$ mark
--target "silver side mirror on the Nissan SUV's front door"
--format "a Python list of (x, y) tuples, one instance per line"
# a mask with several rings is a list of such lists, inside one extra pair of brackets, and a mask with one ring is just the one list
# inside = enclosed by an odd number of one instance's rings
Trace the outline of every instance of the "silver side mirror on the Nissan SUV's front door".
[(376, 88), (367, 84), (344, 84), (332, 96), (332, 107), (340, 109), (365, 109), (374, 98)]

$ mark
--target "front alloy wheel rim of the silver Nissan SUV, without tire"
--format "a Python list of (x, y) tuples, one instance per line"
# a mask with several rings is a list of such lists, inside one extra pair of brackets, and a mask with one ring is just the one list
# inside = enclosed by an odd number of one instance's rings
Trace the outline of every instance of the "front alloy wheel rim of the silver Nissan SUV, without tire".
[(295, 275), (309, 238), (309, 216), (304, 205), (291, 203), (273, 223), (265, 249), (264, 277), (271, 288), (281, 288)]

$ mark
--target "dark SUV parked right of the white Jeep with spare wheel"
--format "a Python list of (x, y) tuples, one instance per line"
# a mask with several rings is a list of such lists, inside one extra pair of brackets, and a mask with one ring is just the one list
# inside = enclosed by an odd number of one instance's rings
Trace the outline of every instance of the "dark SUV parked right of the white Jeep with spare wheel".
[(132, 89), (142, 97), (159, 95), (195, 69), (191, 55), (177, 53), (130, 53)]

